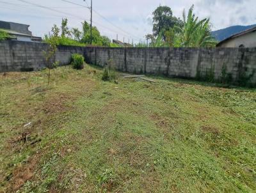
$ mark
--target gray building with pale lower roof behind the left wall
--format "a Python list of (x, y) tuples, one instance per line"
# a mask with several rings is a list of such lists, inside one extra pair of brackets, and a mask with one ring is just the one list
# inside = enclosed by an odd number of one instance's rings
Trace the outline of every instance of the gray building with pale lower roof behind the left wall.
[(28, 30), (28, 27), (26, 24), (0, 21), (0, 29), (10, 35), (9, 39), (24, 42), (42, 42), (42, 38), (33, 36), (31, 31)]

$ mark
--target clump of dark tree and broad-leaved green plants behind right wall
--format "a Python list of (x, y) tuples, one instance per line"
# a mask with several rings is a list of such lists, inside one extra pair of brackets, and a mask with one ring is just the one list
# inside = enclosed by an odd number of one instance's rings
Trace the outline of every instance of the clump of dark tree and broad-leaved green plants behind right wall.
[(172, 10), (159, 6), (154, 14), (153, 33), (147, 35), (150, 47), (214, 47), (216, 40), (211, 35), (209, 19), (199, 20), (191, 6), (183, 21), (173, 17)]

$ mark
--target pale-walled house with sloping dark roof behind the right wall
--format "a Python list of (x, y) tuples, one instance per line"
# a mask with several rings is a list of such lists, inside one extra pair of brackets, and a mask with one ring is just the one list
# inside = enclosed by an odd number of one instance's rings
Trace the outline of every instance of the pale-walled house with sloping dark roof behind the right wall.
[(256, 27), (230, 36), (216, 45), (217, 47), (256, 47)]

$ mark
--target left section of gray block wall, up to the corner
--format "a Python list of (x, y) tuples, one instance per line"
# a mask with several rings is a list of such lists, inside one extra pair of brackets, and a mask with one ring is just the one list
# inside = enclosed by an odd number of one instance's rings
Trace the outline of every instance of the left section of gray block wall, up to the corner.
[[(0, 72), (40, 70), (46, 66), (44, 52), (47, 43), (3, 41), (0, 42)], [(58, 46), (55, 61), (68, 65), (72, 54), (85, 55), (85, 47)]]

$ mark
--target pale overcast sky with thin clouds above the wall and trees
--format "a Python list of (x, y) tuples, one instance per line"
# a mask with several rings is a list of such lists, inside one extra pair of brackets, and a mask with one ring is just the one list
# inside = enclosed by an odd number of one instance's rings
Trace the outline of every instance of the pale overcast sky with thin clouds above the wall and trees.
[[(67, 1), (90, 5), (90, 0)], [(210, 17), (213, 30), (256, 24), (256, 0), (93, 0), (93, 10), (109, 20), (93, 12), (93, 26), (97, 26), (100, 33), (109, 38), (116, 38), (118, 34), (119, 40), (125, 37), (125, 42), (132, 39), (138, 42), (145, 39), (146, 34), (152, 33), (152, 12), (159, 4), (170, 6), (177, 17), (182, 17), (182, 11), (188, 11), (195, 4), (195, 14), (201, 19)], [(0, 20), (29, 24), (35, 36), (44, 36), (51, 31), (53, 24), (60, 26), (62, 17), (67, 17), (69, 27), (81, 28), (81, 21), (90, 19), (90, 10), (62, 0), (0, 0)]]

